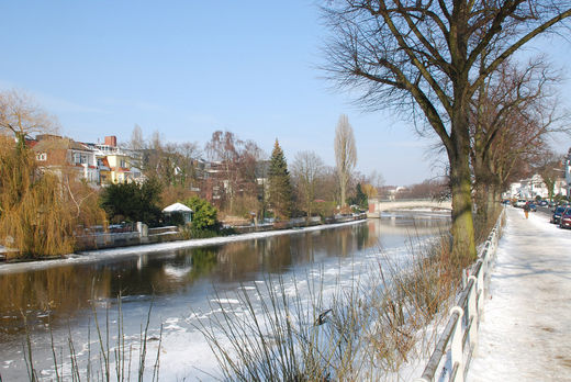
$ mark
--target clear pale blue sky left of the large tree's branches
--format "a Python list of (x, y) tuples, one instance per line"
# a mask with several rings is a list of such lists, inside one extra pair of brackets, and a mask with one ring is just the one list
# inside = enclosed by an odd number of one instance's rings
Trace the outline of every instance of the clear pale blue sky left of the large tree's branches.
[(290, 161), (311, 149), (333, 166), (345, 113), (359, 171), (388, 184), (441, 173), (429, 141), (320, 78), (326, 31), (313, 1), (2, 1), (0, 14), (0, 89), (35, 97), (74, 139), (126, 142), (138, 124), (146, 137), (203, 146), (228, 130), (268, 154), (278, 138)]

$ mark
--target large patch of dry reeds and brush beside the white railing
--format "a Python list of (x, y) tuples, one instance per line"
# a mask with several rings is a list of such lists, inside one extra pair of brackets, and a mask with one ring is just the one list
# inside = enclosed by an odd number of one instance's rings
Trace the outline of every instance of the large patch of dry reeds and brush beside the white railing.
[(233, 295), (237, 311), (219, 296), (211, 308), (220, 315), (198, 328), (222, 380), (384, 380), (429, 351), (435, 341), (429, 324), (444, 316), (459, 274), (444, 235), (404, 260), (382, 257), (377, 269), (337, 280), (333, 292), (325, 293), (322, 274), (302, 280), (304, 291), (293, 280), (293, 293), (281, 277), (265, 280), (253, 295), (243, 288)]

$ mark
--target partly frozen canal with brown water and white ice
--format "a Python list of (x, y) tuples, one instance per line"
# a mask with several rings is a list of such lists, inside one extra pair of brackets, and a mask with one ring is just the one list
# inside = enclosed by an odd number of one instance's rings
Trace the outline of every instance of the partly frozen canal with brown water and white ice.
[[(96, 313), (104, 338), (109, 321), (113, 348), (117, 297), (127, 348), (137, 342), (153, 302), (147, 351), (154, 361), (161, 339), (160, 380), (211, 380), (216, 362), (195, 326), (199, 319), (220, 314), (221, 308), (243, 310), (236, 292), (251, 293), (256, 303), (256, 286), (278, 277), (287, 293), (303, 293), (307, 282), (317, 279), (327, 291), (349, 282), (382, 258), (405, 256), (411, 238), (425, 240), (448, 224), (448, 216), (428, 212), (416, 213), (415, 218), (388, 215), (334, 228), (269, 234), (203, 247), (133, 247), (115, 255), (102, 251), (99, 258), (92, 252), (77, 260), (12, 269), (1, 266), (0, 380), (29, 380), (24, 362), (26, 327), (34, 367), (45, 380), (55, 377), (52, 347), (61, 358), (61, 351), (69, 351), (69, 337), (80, 362), (99, 351)], [(113, 350), (110, 358), (114, 358)], [(138, 356), (132, 369), (136, 370)], [(150, 373), (152, 363), (146, 369)], [(69, 371), (68, 367), (64, 369)], [(135, 379), (136, 372), (131, 377)]]

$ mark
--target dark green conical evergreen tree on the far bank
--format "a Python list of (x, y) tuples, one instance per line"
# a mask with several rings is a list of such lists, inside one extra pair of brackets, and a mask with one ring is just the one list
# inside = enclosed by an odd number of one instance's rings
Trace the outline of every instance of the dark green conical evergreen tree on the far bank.
[(277, 218), (288, 220), (292, 209), (292, 187), (283, 150), (276, 139), (268, 169), (269, 204)]

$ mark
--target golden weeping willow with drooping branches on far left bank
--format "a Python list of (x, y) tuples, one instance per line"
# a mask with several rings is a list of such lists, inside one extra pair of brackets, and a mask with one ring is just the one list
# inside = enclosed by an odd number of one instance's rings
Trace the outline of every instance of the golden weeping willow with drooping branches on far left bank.
[[(0, 239), (19, 252), (9, 256), (43, 257), (74, 249), (71, 211), (59, 178), (41, 173), (24, 142), (2, 137), (0, 150)], [(10, 255), (11, 254), (11, 255)]]

